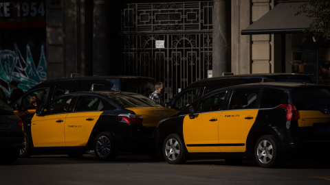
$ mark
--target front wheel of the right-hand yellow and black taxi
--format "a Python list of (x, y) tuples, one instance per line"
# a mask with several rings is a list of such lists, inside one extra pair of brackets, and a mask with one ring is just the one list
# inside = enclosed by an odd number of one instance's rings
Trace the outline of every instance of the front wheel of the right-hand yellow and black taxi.
[(170, 134), (165, 138), (163, 156), (169, 164), (183, 164), (186, 162), (186, 149), (178, 134)]

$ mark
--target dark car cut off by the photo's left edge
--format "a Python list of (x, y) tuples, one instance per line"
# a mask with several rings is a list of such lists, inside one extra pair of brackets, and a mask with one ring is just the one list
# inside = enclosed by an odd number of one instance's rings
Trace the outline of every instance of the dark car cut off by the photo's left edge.
[(11, 164), (19, 158), (24, 143), (23, 122), (0, 100), (0, 163)]

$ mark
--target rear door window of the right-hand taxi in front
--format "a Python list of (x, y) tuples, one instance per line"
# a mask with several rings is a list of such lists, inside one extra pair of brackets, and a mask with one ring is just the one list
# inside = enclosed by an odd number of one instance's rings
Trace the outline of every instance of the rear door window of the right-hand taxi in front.
[(259, 108), (258, 98), (259, 89), (236, 89), (232, 92), (228, 110)]

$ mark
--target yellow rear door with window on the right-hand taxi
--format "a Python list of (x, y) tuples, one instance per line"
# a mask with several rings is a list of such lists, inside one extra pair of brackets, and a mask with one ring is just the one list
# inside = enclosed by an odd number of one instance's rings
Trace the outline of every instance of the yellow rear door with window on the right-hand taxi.
[(234, 90), (227, 111), (219, 121), (221, 152), (244, 152), (246, 140), (258, 114), (259, 89)]

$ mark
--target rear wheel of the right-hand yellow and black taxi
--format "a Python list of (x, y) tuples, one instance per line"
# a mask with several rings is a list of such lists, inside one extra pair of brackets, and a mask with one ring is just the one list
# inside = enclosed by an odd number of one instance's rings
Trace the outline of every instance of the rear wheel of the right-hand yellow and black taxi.
[(256, 163), (263, 168), (274, 168), (280, 162), (278, 143), (274, 136), (265, 135), (256, 140), (254, 146)]

